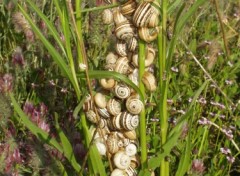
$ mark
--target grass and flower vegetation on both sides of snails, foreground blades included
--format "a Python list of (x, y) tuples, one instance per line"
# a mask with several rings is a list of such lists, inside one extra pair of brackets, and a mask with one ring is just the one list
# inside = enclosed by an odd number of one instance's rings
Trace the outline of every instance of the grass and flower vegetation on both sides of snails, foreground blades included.
[[(82, 11), (74, 13), (76, 27), (68, 1), (0, 0), (1, 175), (110, 174), (107, 160), (89, 147), (81, 109), (86, 85), (99, 88), (98, 70), (115, 42), (113, 26), (102, 25), (103, 5), (72, 1), (73, 13)], [(148, 94), (148, 166), (138, 171), (159, 175), (164, 160), (168, 175), (240, 175), (240, 1), (169, 0), (166, 19), (168, 142), (163, 147), (159, 135), (159, 92)], [(79, 68), (81, 42), (88, 84)]]

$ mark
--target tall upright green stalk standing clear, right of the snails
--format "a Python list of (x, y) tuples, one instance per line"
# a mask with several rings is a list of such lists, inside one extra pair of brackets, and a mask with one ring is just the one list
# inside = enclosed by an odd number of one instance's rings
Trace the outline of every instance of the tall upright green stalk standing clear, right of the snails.
[[(158, 64), (159, 64), (159, 118), (161, 126), (161, 145), (167, 141), (168, 120), (167, 120), (167, 87), (166, 76), (166, 25), (167, 25), (167, 5), (168, 0), (162, 1), (162, 30), (158, 35)], [(169, 175), (169, 163), (163, 158), (160, 164), (160, 176)]]

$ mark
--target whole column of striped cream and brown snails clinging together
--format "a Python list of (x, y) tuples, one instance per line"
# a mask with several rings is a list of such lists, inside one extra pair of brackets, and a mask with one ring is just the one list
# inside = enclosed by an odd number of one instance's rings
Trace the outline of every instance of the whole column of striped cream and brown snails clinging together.
[[(106, 0), (106, 3), (112, 3)], [(102, 13), (104, 24), (114, 23), (116, 37), (115, 52), (109, 52), (105, 59), (105, 69), (126, 75), (138, 85), (138, 38), (148, 43), (145, 56), (145, 73), (142, 82), (148, 91), (156, 90), (156, 79), (149, 66), (154, 62), (155, 50), (150, 42), (159, 32), (159, 4), (155, 1), (137, 3), (127, 0), (113, 9)], [(114, 79), (101, 79), (102, 92), (97, 92), (93, 100), (87, 98), (84, 110), (87, 119), (99, 131), (94, 138), (101, 155), (110, 155), (113, 163), (111, 176), (137, 175), (138, 141), (135, 129), (139, 124), (139, 114), (144, 108), (139, 95), (129, 86)], [(107, 92), (107, 95), (106, 95)]]

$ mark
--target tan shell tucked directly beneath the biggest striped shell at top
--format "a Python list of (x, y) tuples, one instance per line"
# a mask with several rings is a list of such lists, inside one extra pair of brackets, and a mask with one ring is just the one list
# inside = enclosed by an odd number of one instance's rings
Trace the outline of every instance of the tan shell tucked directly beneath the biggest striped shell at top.
[(139, 37), (147, 43), (150, 43), (153, 40), (155, 40), (157, 38), (158, 33), (159, 33), (159, 27), (155, 27), (155, 28), (141, 27), (141, 28), (138, 28)]

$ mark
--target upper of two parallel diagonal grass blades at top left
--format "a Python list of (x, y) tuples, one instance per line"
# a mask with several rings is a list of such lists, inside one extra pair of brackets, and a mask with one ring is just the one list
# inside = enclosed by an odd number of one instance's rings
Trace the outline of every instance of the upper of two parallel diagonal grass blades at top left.
[(62, 43), (61, 38), (60, 38), (57, 30), (55, 29), (54, 25), (48, 20), (48, 18), (41, 12), (41, 10), (32, 1), (27, 0), (27, 2), (31, 6), (31, 8), (34, 10), (34, 12), (36, 12), (38, 14), (38, 16), (45, 22), (45, 24), (49, 30), (49, 33), (52, 34), (53, 38), (55, 39), (58, 46), (62, 50), (64, 56), (66, 56), (66, 52), (65, 52), (63, 43)]

